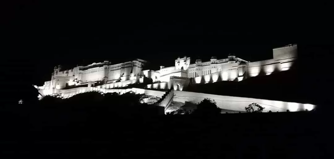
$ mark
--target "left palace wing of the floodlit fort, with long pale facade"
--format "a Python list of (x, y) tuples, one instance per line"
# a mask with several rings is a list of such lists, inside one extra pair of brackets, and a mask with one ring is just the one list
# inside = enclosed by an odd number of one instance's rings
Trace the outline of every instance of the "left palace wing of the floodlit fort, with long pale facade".
[(142, 67), (147, 61), (135, 59), (119, 64), (111, 64), (109, 61), (92, 63), (87, 66), (77, 66), (69, 70), (62, 70), (61, 66), (55, 66), (51, 80), (44, 82), (43, 86), (35, 86), (41, 95), (58, 94), (59, 91), (71, 87), (94, 87), (96, 83), (113, 83), (115, 87), (125, 87), (129, 84), (143, 82)]

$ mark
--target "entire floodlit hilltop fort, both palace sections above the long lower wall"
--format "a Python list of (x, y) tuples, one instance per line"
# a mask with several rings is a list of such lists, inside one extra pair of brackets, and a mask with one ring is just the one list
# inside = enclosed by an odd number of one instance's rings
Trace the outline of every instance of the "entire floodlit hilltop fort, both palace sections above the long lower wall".
[[(196, 59), (195, 63), (190, 63), (190, 57), (185, 56), (175, 59), (173, 66), (160, 66), (159, 70), (143, 70), (142, 68), (147, 61), (142, 59), (118, 64), (112, 64), (106, 60), (87, 66), (77, 66), (69, 70), (62, 70), (61, 66), (56, 66), (52, 72), (51, 80), (44, 82), (43, 86), (35, 86), (35, 88), (39, 90), (41, 96), (61, 95), (67, 98), (92, 90), (104, 93), (125, 93), (127, 90), (123, 89), (124, 87), (150, 81), (151, 83), (144, 85), (142, 89), (137, 87), (132, 91), (146, 93), (154, 89), (172, 89), (175, 93), (184, 92), (182, 90), (189, 84), (242, 81), (260, 74), (269, 75), (276, 71), (285, 71), (291, 68), (296, 59), (297, 45), (291, 44), (274, 48), (272, 59), (255, 62), (241, 59), (232, 53), (226, 58), (212, 56), (208, 61)], [(127, 89), (129, 90), (129, 87)], [(158, 93), (159, 95), (156, 96), (161, 97), (164, 93)], [(154, 93), (151, 91), (151, 94)], [(288, 109), (289, 106), (279, 107)]]

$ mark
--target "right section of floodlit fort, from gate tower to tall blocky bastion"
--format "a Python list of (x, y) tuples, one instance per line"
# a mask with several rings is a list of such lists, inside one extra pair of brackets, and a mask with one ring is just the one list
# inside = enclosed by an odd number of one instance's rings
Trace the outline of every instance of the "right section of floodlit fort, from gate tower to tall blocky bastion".
[[(212, 56), (209, 61), (196, 59), (190, 63), (190, 57), (177, 58), (171, 67), (160, 66), (160, 70), (151, 71), (146, 76), (161, 83), (168, 83), (174, 90), (181, 90), (187, 83), (210, 83), (217, 81), (241, 81), (257, 75), (269, 75), (275, 71), (290, 69), (297, 59), (297, 45), (288, 45), (273, 49), (273, 58), (268, 60), (250, 62), (229, 54), (227, 58), (217, 59)], [(183, 81), (176, 78), (183, 77)], [(189, 80), (185, 80), (188, 78)], [(187, 82), (188, 81), (188, 82)], [(148, 85), (148, 88), (164, 88), (163, 85)]]

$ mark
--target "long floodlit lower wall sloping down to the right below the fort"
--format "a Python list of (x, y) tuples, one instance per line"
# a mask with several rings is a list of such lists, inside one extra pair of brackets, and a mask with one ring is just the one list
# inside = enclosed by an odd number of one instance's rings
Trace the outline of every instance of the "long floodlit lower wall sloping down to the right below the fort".
[[(96, 87), (80, 87), (73, 88), (68, 90), (40, 90), (49, 91), (44, 92), (45, 95), (60, 94), (63, 98), (69, 98), (79, 93), (85, 93), (90, 91), (98, 91), (101, 93), (118, 93), (124, 94), (127, 92), (134, 92), (136, 94), (145, 94), (156, 97), (161, 97), (161, 99), (155, 103), (156, 106), (163, 106), (165, 110), (171, 104), (172, 101), (175, 102), (190, 102), (192, 104), (198, 104), (205, 98), (214, 100), (217, 103), (217, 106), (221, 109), (233, 110), (233, 111), (244, 111), (244, 108), (249, 104), (257, 103), (265, 108), (264, 112), (286, 112), (287, 110), (291, 112), (295, 111), (305, 111), (306, 109), (312, 110), (315, 109), (315, 105), (311, 104), (302, 104), (302, 103), (293, 103), (293, 102), (283, 102), (283, 101), (273, 101), (273, 100), (264, 100), (264, 99), (255, 99), (255, 98), (244, 98), (244, 97), (232, 97), (232, 96), (220, 96), (220, 95), (211, 95), (204, 93), (194, 93), (186, 91), (176, 91), (169, 89), (166, 92), (155, 91), (155, 90), (146, 90), (140, 88), (130, 88), (130, 89), (104, 89)], [(41, 93), (41, 92), (40, 92)], [(42, 94), (41, 93), (41, 94)]]

